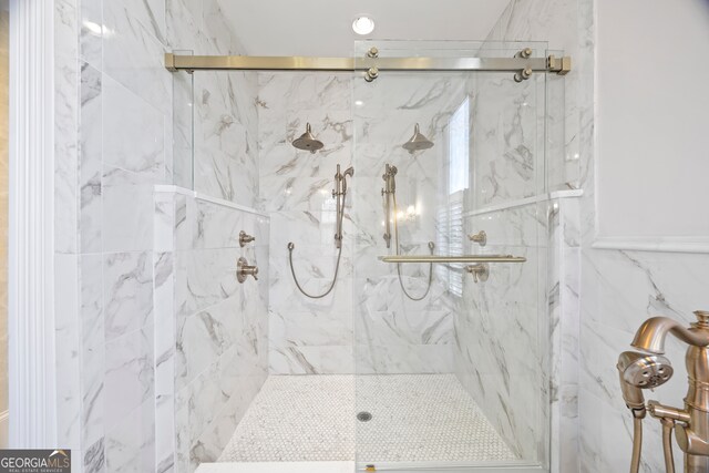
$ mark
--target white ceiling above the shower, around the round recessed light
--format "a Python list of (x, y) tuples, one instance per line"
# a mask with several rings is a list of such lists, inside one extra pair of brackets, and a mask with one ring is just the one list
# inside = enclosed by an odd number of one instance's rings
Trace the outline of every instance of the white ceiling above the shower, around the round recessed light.
[[(250, 55), (350, 56), (358, 39), (484, 40), (508, 0), (223, 0)], [(352, 32), (372, 18), (374, 31)]]

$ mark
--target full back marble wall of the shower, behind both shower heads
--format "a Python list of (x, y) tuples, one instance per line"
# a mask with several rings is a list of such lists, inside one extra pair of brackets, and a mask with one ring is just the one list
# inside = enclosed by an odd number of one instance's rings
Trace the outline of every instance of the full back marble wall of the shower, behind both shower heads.
[[(273, 218), (271, 372), (452, 371), (445, 289), (434, 280), (427, 299), (409, 301), (395, 268), (378, 263), (377, 255), (387, 253), (380, 194), (386, 163), (399, 166), (399, 205), (414, 206), (420, 214), (401, 224), (402, 249), (428, 251), (428, 241), (436, 239), (441, 136), (459, 103), (452, 96), (461, 88), (460, 78), (399, 76), (368, 84), (359, 78), (352, 82), (350, 74), (259, 76), (260, 205)], [(316, 154), (290, 145), (308, 122), (325, 143)], [(411, 156), (400, 145), (417, 122), (439, 146)], [(337, 260), (330, 195), (337, 164), (354, 166), (341, 267), (333, 292), (311, 300), (295, 287), (286, 245), (296, 245), (294, 265), (302, 286), (316, 294), (326, 289)], [(404, 267), (402, 273), (412, 294), (425, 290), (428, 267)]]

